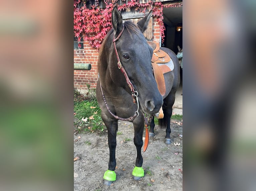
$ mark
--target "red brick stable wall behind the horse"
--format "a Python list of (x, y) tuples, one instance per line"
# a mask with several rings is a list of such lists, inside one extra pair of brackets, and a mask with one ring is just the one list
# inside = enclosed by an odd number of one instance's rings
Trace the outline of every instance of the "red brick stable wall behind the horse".
[[(155, 18), (153, 18), (153, 41), (160, 42), (160, 27)], [(88, 42), (84, 42), (83, 50), (74, 50), (74, 63), (91, 64), (92, 69), (86, 70), (74, 70), (74, 87), (81, 92), (87, 91), (87, 84), (91, 88), (96, 88), (98, 73), (97, 62), (99, 53), (96, 49), (90, 47)]]

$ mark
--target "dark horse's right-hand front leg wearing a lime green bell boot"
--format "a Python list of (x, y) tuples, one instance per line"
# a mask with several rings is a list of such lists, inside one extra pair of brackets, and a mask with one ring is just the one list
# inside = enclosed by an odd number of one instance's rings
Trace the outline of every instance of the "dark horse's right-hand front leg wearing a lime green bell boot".
[(143, 145), (143, 131), (144, 131), (144, 118), (141, 116), (140, 118), (136, 118), (137, 120), (133, 121), (134, 126), (134, 138), (133, 142), (136, 146), (137, 157), (135, 162), (135, 167), (132, 171), (133, 179), (140, 180), (144, 176), (144, 170), (142, 168), (143, 158), (141, 155), (141, 147)]

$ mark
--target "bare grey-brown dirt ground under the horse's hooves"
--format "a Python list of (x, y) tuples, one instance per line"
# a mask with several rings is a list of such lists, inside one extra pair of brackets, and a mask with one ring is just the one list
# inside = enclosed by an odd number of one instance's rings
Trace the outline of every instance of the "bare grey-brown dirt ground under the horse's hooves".
[[(165, 129), (159, 129), (158, 125), (155, 126), (156, 135), (150, 138), (147, 150), (144, 153), (142, 151), (142, 167), (145, 176), (140, 181), (132, 179), (132, 170), (136, 160), (133, 125), (124, 121), (119, 121), (118, 124), (118, 131), (122, 134), (117, 135), (116, 181), (110, 186), (103, 184), (103, 175), (108, 169), (109, 161), (107, 132), (74, 135), (74, 158), (79, 157), (74, 161), (74, 191), (181, 191), (181, 121), (171, 120), (172, 143), (170, 145), (164, 143)], [(175, 146), (176, 142), (180, 145)]]

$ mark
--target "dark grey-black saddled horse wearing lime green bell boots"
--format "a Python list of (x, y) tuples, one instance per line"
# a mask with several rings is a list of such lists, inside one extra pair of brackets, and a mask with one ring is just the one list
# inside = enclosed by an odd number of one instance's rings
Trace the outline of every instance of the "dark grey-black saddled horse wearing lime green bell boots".
[[(149, 125), (150, 121), (145, 115), (152, 116), (157, 113), (163, 103), (166, 106), (163, 107), (166, 114), (165, 118), (170, 118), (172, 113), (171, 107), (179, 81), (175, 78), (179, 72), (176, 69), (164, 76), (165, 82), (167, 82), (166, 92), (168, 92), (164, 101), (158, 91), (152, 72), (151, 58), (153, 50), (143, 36), (151, 15), (152, 10), (137, 24), (131, 21), (123, 23), (122, 15), (115, 6), (112, 10), (113, 28), (104, 38), (100, 48), (96, 98), (102, 110), (102, 120), (108, 131), (109, 163), (108, 170), (103, 176), (106, 185), (110, 185), (116, 180), (114, 171), (116, 167), (115, 150), (118, 120), (127, 120), (133, 123), (133, 141), (136, 146), (137, 157), (132, 175), (134, 180), (140, 180), (144, 176), (141, 155), (142, 136), (145, 123)], [(171, 57), (173, 56), (169, 49), (161, 49)], [(174, 88), (172, 88), (173, 85)], [(164, 122), (170, 123), (170, 119), (165, 118), (163, 118)], [(152, 121), (150, 126), (153, 124)], [(151, 129), (153, 129), (153, 125)], [(170, 139), (169, 135), (166, 135), (166, 138)]]

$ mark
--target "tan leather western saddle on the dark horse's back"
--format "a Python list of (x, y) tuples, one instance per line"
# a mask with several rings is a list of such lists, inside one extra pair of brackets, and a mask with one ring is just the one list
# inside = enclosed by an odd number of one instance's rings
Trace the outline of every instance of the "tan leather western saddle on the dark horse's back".
[[(162, 96), (165, 95), (165, 82), (163, 74), (170, 72), (171, 69), (164, 63), (170, 62), (171, 58), (164, 51), (160, 50), (159, 43), (156, 42), (147, 42), (148, 45), (153, 49), (153, 56), (151, 59), (151, 65), (156, 80), (158, 91)], [(161, 64), (161, 65), (158, 65)], [(163, 110), (160, 108), (159, 112), (155, 114), (157, 118), (163, 118)]]

